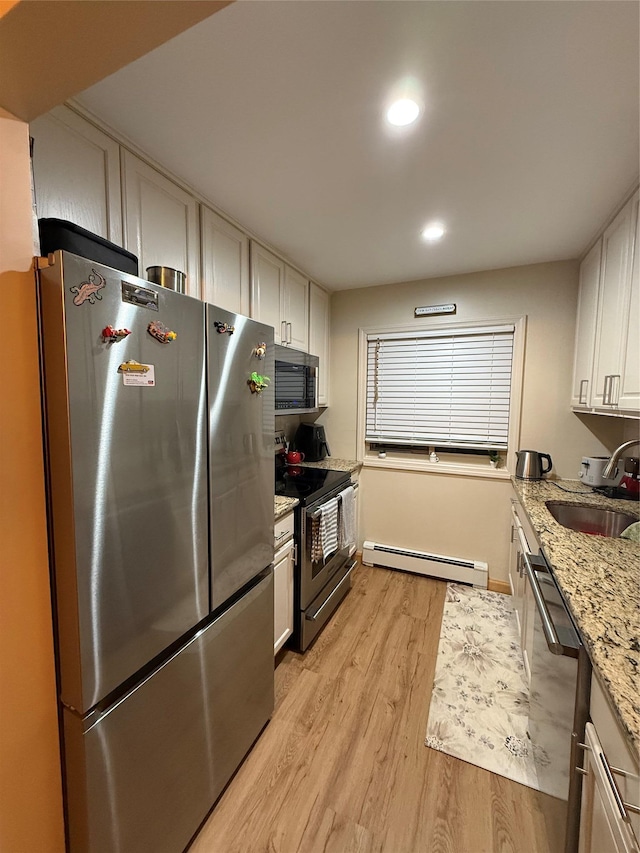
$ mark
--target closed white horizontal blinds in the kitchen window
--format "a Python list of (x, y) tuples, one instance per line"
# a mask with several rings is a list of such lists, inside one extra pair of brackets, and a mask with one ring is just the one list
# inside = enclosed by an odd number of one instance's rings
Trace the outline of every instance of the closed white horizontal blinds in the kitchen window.
[(367, 336), (369, 442), (506, 450), (513, 326)]

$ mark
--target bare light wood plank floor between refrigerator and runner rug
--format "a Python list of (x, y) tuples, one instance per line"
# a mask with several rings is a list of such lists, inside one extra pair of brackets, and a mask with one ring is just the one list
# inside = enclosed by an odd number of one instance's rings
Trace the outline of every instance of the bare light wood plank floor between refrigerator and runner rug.
[(189, 853), (557, 853), (542, 795), (424, 746), (444, 590), (356, 569)]

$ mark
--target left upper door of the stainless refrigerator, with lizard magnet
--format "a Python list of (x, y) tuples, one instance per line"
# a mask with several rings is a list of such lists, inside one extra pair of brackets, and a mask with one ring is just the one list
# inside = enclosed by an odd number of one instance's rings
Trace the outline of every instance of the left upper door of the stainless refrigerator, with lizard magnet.
[[(61, 698), (84, 714), (209, 612), (204, 307), (68, 253), (40, 298)], [(124, 384), (131, 359), (155, 386)]]

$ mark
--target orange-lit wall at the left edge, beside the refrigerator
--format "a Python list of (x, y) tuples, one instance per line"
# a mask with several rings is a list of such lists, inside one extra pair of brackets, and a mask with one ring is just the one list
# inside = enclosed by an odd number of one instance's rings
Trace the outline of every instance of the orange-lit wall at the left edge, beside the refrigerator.
[(0, 850), (64, 850), (27, 125), (0, 110)]

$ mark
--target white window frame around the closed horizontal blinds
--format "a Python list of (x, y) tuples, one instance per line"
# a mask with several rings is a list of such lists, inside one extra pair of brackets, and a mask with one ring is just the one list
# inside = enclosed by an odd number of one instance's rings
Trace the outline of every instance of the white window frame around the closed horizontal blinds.
[[(428, 454), (409, 454), (394, 451), (388, 446), (382, 458), (377, 451), (372, 451), (365, 440), (367, 412), (367, 339), (375, 335), (390, 333), (417, 333), (424, 331), (442, 331), (454, 334), (459, 330), (473, 330), (487, 326), (513, 325), (513, 362), (511, 370), (511, 396), (509, 407), (509, 437), (506, 451), (506, 464), (492, 468), (487, 457), (480, 457), (477, 462), (459, 462), (441, 459), (431, 462)], [(358, 424), (357, 452), (358, 461), (366, 468), (392, 468), (400, 471), (423, 471), (438, 474), (453, 474), (467, 477), (484, 477), (490, 479), (508, 479), (510, 468), (515, 462), (515, 451), (519, 446), (520, 415), (522, 410), (522, 387), (524, 375), (524, 352), (527, 318), (501, 317), (478, 319), (470, 321), (441, 321), (427, 323), (406, 323), (396, 326), (372, 326), (358, 330)], [(470, 451), (470, 455), (473, 451)]]

